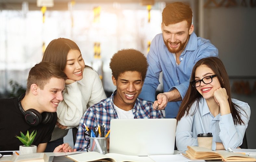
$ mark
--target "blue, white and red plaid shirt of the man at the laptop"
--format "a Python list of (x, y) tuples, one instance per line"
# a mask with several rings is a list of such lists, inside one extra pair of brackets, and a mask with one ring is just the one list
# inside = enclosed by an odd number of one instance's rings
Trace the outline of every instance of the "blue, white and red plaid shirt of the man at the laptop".
[[(116, 91), (109, 98), (101, 100), (85, 111), (76, 134), (76, 143), (74, 148), (77, 149), (77, 151), (86, 150), (86, 146), (88, 144), (88, 141), (84, 140), (84, 132), (86, 129), (83, 123), (85, 123), (86, 126), (91, 129), (98, 124), (103, 125), (104, 123), (105, 134), (107, 134), (110, 129), (110, 120), (118, 119), (117, 112), (113, 104), (115, 94)], [(163, 113), (161, 110), (153, 110), (153, 103), (141, 98), (136, 99), (132, 111), (134, 114), (134, 119), (163, 118)]]

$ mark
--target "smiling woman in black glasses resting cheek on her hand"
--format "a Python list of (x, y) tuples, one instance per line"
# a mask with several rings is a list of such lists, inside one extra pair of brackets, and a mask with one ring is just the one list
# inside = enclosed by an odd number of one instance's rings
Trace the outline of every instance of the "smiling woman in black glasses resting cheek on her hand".
[(197, 146), (197, 134), (212, 133), (212, 150), (237, 148), (243, 142), (250, 119), (247, 103), (231, 98), (224, 64), (217, 57), (199, 60), (178, 115), (176, 146)]

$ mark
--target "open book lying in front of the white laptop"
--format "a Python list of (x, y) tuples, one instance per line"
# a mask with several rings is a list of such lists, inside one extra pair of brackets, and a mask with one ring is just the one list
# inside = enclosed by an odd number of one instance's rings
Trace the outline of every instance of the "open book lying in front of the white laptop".
[(85, 152), (82, 154), (68, 155), (66, 156), (76, 162), (89, 162), (89, 161), (106, 161), (106, 162), (154, 162), (148, 156), (130, 156), (122, 154), (100, 154), (98, 152)]

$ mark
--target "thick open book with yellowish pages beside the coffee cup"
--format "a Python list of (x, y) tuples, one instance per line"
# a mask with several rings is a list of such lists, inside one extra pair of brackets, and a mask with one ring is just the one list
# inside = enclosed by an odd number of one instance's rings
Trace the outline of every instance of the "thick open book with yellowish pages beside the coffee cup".
[(254, 157), (240, 153), (231, 153), (225, 150), (212, 151), (207, 148), (198, 146), (187, 146), (188, 150), (184, 156), (191, 160), (217, 160), (222, 161), (256, 161)]

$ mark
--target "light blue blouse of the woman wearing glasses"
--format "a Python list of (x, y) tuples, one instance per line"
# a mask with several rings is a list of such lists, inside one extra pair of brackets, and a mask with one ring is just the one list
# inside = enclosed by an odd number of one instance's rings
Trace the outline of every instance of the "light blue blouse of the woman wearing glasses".
[(197, 134), (209, 132), (213, 134), (212, 150), (216, 150), (215, 142), (223, 143), (225, 150), (228, 147), (239, 147), (243, 142), (244, 133), (250, 120), (250, 107), (246, 102), (237, 99), (232, 98), (232, 102), (242, 109), (239, 109), (240, 117), (245, 124), (234, 125), (231, 113), (222, 116), (218, 114), (214, 117), (206, 100), (200, 98), (198, 108), (197, 101), (195, 101), (189, 110), (189, 115), (183, 116), (177, 123), (177, 149), (185, 151), (188, 145), (198, 146)]

